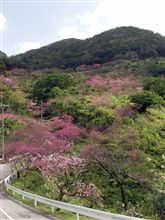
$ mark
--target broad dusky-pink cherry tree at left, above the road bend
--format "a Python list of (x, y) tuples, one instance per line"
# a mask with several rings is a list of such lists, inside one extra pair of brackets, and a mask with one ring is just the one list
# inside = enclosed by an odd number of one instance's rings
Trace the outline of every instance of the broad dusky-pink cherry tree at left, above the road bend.
[(5, 160), (12, 162), (16, 170), (23, 169), (26, 172), (33, 158), (63, 152), (69, 147), (67, 140), (57, 138), (41, 123), (29, 121), (25, 128), (6, 138)]

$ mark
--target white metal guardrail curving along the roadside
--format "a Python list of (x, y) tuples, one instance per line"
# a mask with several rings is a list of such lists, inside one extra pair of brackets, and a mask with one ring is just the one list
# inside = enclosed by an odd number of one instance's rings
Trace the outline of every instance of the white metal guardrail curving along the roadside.
[(73, 205), (70, 203), (60, 202), (57, 200), (48, 199), (48, 198), (45, 198), (42, 196), (38, 196), (38, 195), (29, 193), (29, 192), (22, 191), (22, 190), (17, 189), (9, 184), (11, 182), (12, 178), (16, 175), (17, 175), (17, 172), (14, 172), (13, 174), (8, 176), (4, 180), (0, 181), (0, 184), (2, 185), (4, 183), (7, 190), (10, 189), (13, 192), (13, 194), (18, 193), (19, 195), (22, 196), (23, 200), (25, 197), (34, 200), (35, 207), (37, 206), (37, 202), (40, 202), (40, 203), (43, 203), (46, 205), (50, 205), (52, 213), (54, 212), (55, 208), (70, 211), (70, 212), (76, 214), (76, 220), (80, 219), (80, 215), (83, 215), (86, 217), (91, 217), (91, 218), (98, 219), (98, 220), (142, 220), (141, 218), (135, 218), (135, 217), (125, 216), (125, 215), (118, 215), (118, 214), (113, 214), (113, 213), (104, 212), (104, 211), (100, 211), (100, 210), (86, 208), (83, 206)]

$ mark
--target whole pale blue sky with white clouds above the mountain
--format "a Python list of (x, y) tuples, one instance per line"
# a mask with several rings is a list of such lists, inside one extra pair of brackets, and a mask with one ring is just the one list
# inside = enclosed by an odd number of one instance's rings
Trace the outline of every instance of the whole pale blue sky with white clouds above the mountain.
[(66, 38), (85, 39), (120, 26), (165, 36), (165, 0), (0, 1), (0, 50), (9, 56)]

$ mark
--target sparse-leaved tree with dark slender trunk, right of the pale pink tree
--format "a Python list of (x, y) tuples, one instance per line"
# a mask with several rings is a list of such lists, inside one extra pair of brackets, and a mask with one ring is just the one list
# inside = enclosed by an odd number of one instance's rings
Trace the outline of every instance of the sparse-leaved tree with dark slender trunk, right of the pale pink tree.
[(146, 155), (137, 147), (101, 143), (98, 146), (88, 145), (82, 155), (104, 171), (109, 183), (110, 180), (116, 183), (125, 210), (129, 202), (128, 183), (131, 181), (141, 186), (149, 184), (150, 165)]

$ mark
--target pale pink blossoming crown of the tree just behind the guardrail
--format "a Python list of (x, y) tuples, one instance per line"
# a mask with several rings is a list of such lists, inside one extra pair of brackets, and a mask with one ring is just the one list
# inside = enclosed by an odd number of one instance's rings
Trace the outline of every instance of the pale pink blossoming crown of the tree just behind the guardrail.
[[(76, 156), (52, 154), (33, 160), (32, 165), (41, 170), (43, 176), (58, 188), (73, 186), (77, 193), (78, 184), (85, 172), (86, 161)], [(63, 189), (64, 190), (64, 189)]]

